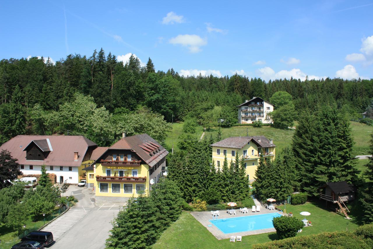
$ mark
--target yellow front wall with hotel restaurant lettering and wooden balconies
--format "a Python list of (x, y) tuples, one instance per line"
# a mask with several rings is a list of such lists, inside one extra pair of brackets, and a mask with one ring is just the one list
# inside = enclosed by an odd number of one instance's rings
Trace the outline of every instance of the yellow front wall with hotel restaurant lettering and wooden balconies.
[[(118, 178), (118, 180), (106, 180), (103, 177), (104, 181), (100, 181), (97, 179), (96, 176), (107, 176), (107, 170), (110, 170), (111, 178), (115, 178), (115, 176), (119, 176), (119, 171), (123, 171), (123, 176), (128, 176), (126, 181), (123, 179)], [(137, 176), (135, 178), (131, 178), (134, 174), (134, 171), (137, 171)], [(145, 181), (142, 181), (138, 178), (145, 178)], [(132, 180), (133, 179), (133, 180)], [(90, 179), (91, 180), (91, 179)], [(148, 186), (149, 186), (149, 165), (142, 164), (140, 166), (113, 166), (113, 165), (102, 165), (101, 163), (96, 163), (95, 170), (94, 170), (94, 184), (95, 184), (95, 194), (96, 196), (114, 196), (114, 197), (137, 197), (138, 191), (144, 190), (145, 194), (148, 194)], [(90, 181), (88, 181), (90, 183)], [(100, 184), (107, 184), (107, 190), (105, 186)], [(118, 188), (114, 188), (113, 184), (117, 187), (119, 184), (119, 192)], [(130, 188), (130, 184), (132, 184), (132, 188)], [(126, 185), (126, 186), (125, 186)], [(101, 189), (102, 187), (102, 189)], [(126, 187), (126, 188), (125, 188)], [(137, 188), (138, 187), (138, 188)], [(129, 191), (130, 189), (131, 192)], [(126, 193), (125, 193), (126, 191)], [(129, 193), (130, 192), (130, 193)]]

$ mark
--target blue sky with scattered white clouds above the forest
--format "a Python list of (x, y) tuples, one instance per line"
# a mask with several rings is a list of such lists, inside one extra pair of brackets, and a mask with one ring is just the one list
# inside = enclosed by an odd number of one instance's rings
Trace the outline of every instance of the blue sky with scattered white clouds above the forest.
[(373, 1), (3, 1), (1, 58), (101, 47), (183, 75), (373, 78)]

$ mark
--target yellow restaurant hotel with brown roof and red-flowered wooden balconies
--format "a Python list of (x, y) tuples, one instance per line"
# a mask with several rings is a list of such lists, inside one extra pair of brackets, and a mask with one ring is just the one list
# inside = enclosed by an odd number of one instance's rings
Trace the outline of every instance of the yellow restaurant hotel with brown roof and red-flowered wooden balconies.
[[(97, 147), (86, 167), (88, 187), (96, 200), (126, 201), (139, 193), (148, 194), (151, 185), (166, 172), (169, 152), (147, 134), (123, 137), (110, 147)], [(114, 199), (113, 199), (114, 198)]]

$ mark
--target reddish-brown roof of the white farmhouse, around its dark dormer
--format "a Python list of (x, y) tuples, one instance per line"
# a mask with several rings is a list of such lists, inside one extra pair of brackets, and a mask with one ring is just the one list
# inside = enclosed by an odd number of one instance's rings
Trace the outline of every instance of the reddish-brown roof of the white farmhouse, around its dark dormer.
[[(49, 141), (50, 152), (46, 159), (26, 160), (26, 151), (24, 149), (32, 141), (45, 147), (43, 141)], [(47, 165), (47, 166), (80, 166), (87, 153), (89, 146), (97, 146), (91, 140), (84, 136), (40, 136), (40, 135), (18, 135), (10, 139), (0, 150), (8, 150), (12, 157), (18, 159), (19, 164), (23, 165)], [(49, 148), (49, 147), (48, 147)], [(78, 152), (78, 161), (74, 161), (74, 152)]]

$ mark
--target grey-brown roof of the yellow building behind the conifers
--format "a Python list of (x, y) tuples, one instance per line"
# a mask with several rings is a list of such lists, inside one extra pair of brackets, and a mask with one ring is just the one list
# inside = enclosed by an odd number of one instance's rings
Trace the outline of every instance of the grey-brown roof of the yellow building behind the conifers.
[[(260, 142), (258, 142), (259, 138)], [(254, 141), (259, 147), (276, 147), (276, 145), (270, 144), (269, 139), (265, 136), (231, 136), (230, 138), (210, 144), (210, 146), (241, 149), (250, 141)]]

